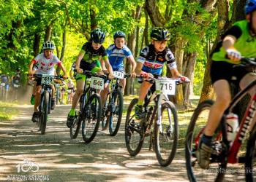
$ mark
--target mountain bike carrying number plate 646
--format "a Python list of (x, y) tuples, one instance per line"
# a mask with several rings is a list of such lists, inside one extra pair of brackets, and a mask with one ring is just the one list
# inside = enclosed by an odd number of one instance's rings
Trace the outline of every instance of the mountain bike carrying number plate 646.
[(99, 76), (92, 74), (91, 71), (83, 71), (83, 74), (86, 75), (86, 84), (83, 95), (80, 96), (80, 111), (75, 115), (75, 121), (69, 132), (70, 138), (77, 138), (82, 124), (83, 141), (90, 143), (97, 135), (102, 116), (102, 104), (97, 90), (104, 89), (105, 75)]

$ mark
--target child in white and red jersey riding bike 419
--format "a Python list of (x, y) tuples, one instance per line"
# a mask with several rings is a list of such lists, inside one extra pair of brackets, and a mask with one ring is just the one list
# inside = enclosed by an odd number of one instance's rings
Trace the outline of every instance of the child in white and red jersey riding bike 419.
[[(53, 55), (54, 49), (55, 49), (55, 46), (54, 46), (53, 42), (45, 41), (42, 44), (43, 53), (37, 55), (37, 57), (34, 58), (33, 60), (31, 60), (31, 63), (29, 64), (29, 74), (34, 73), (33, 66), (34, 66), (34, 64), (38, 63), (38, 68), (37, 68), (37, 71), (35, 72), (35, 74), (54, 75), (54, 66), (58, 65), (61, 67), (61, 70), (64, 73), (64, 78), (67, 78), (66, 70), (65, 70), (64, 66), (62, 65), (61, 61), (59, 60), (59, 58), (56, 57), (56, 55)], [(39, 106), (39, 100), (41, 97), (41, 89), (42, 89), (41, 79), (37, 79), (36, 82), (37, 82), (37, 87), (36, 87), (36, 95), (35, 95), (35, 99), (34, 99), (34, 114), (31, 119), (33, 122), (38, 122), (38, 116), (39, 116), (38, 106)], [(54, 92), (52, 94), (51, 104), (52, 104), (51, 109), (53, 109), (55, 106)]]

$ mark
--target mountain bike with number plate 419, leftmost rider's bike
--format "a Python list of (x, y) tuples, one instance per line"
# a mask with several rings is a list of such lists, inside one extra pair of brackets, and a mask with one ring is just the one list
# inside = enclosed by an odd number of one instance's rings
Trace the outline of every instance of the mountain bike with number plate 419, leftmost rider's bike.
[(37, 126), (39, 127), (39, 131), (41, 131), (42, 135), (45, 135), (46, 123), (48, 119), (48, 114), (50, 114), (50, 105), (51, 105), (51, 97), (52, 97), (52, 86), (51, 83), (53, 79), (64, 80), (62, 76), (53, 76), (53, 75), (45, 75), (45, 74), (34, 74), (34, 78), (41, 79), (41, 98), (39, 101), (39, 122), (37, 122)]

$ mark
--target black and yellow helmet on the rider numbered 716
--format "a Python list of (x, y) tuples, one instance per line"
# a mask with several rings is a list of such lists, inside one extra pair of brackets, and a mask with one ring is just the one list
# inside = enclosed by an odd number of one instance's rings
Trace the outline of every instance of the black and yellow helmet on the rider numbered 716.
[(170, 40), (170, 31), (163, 27), (154, 27), (150, 33), (151, 39), (156, 41)]

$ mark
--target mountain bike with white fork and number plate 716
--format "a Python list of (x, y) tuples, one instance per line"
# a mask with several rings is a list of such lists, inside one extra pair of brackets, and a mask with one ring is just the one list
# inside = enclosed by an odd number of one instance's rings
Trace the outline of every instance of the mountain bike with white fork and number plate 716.
[[(141, 77), (140, 77), (141, 78)], [(181, 79), (150, 78), (152, 94), (145, 98), (141, 119), (135, 119), (135, 98), (129, 104), (125, 122), (125, 143), (131, 156), (136, 156), (146, 136), (150, 136), (149, 150), (154, 149), (160, 165), (167, 166), (173, 161), (178, 144), (178, 117), (176, 107), (167, 95), (175, 95), (176, 84)], [(153, 104), (152, 104), (153, 102)], [(154, 124), (154, 126), (153, 126)], [(153, 147), (152, 147), (153, 145)]]

